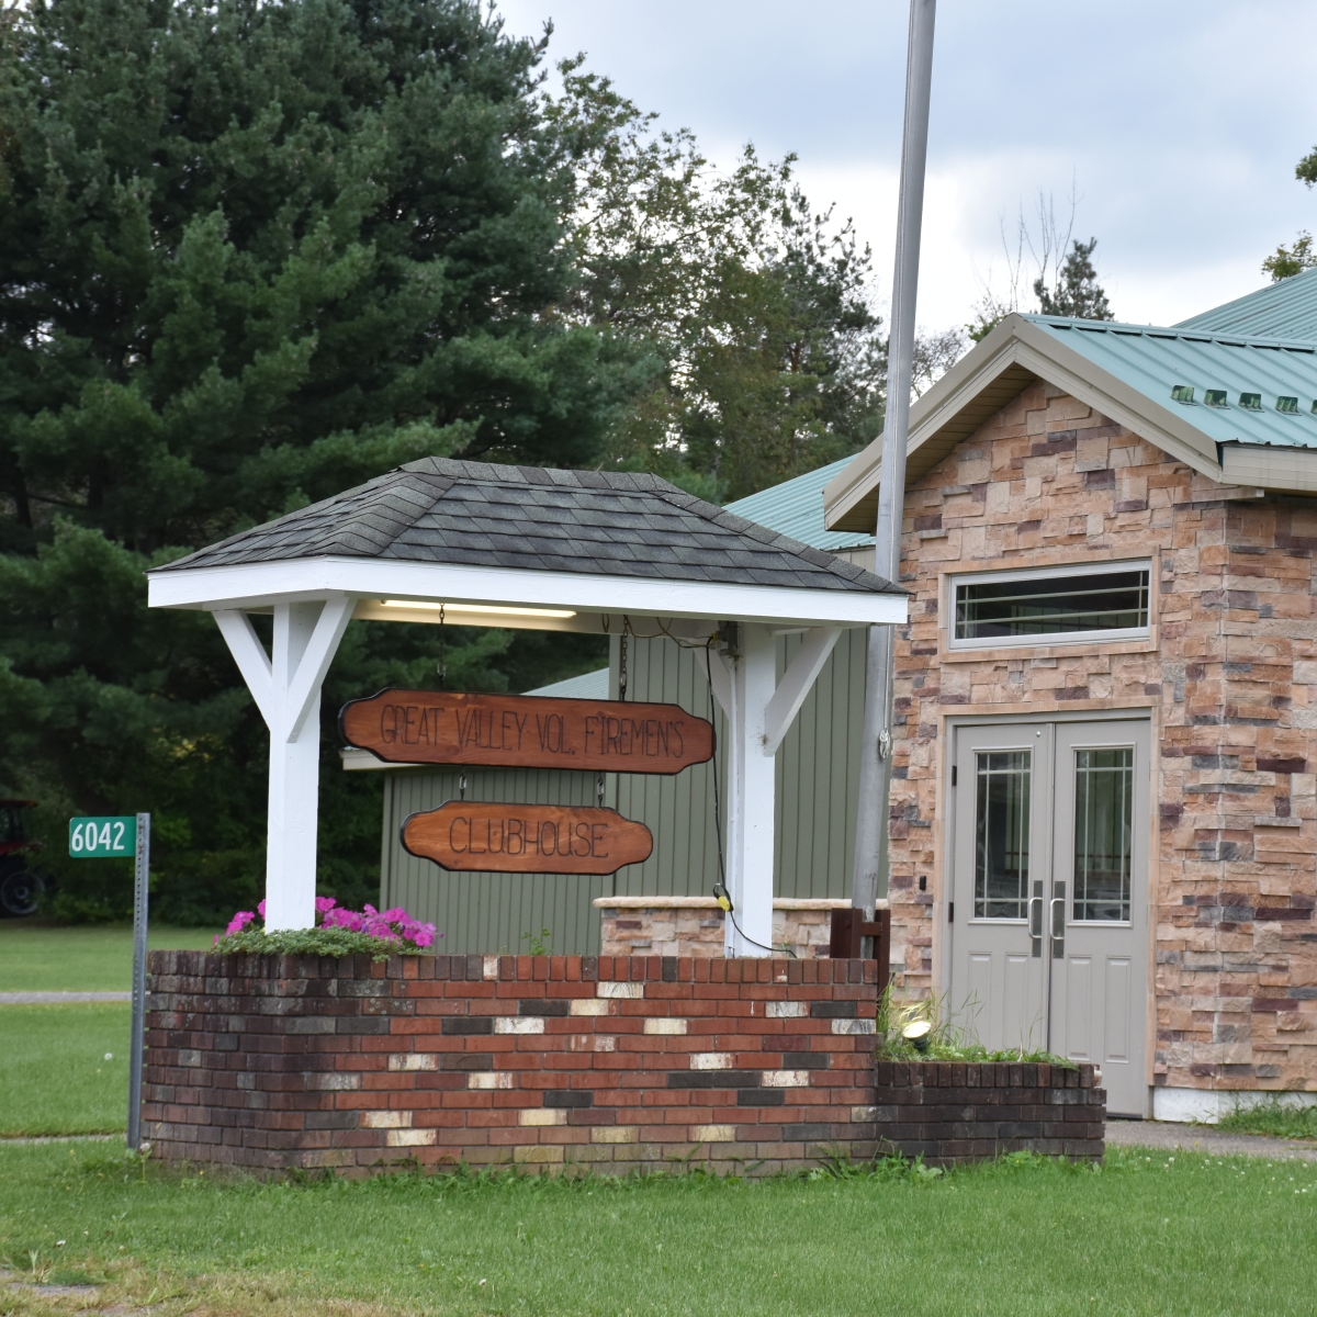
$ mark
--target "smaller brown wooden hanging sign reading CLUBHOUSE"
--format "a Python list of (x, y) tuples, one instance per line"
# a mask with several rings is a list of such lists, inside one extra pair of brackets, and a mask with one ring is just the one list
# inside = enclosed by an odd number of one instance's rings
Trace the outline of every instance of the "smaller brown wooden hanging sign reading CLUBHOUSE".
[(477, 873), (616, 873), (648, 860), (653, 834), (616, 810), (448, 801), (403, 823), (403, 848)]

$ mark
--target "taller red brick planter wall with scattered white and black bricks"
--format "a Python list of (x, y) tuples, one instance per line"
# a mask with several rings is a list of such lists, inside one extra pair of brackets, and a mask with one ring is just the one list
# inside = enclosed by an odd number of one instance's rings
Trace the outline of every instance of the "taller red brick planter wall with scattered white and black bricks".
[(773, 1171), (874, 1150), (873, 961), (157, 951), (149, 992), (166, 1158)]

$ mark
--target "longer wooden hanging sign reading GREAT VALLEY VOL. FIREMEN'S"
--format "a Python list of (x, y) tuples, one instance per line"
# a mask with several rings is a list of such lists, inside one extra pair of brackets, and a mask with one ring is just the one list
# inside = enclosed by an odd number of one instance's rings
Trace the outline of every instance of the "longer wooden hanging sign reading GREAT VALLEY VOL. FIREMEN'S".
[(714, 755), (707, 719), (616, 699), (382, 690), (344, 705), (338, 728), (386, 764), (680, 773)]

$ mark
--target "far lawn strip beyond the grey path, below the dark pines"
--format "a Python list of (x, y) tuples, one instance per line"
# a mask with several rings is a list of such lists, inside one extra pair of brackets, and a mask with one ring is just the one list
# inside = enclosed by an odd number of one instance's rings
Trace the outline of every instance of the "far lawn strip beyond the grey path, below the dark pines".
[[(151, 950), (211, 946), (215, 928), (150, 928)], [(51, 927), (0, 919), (0, 992), (128, 992), (133, 986), (129, 925)]]

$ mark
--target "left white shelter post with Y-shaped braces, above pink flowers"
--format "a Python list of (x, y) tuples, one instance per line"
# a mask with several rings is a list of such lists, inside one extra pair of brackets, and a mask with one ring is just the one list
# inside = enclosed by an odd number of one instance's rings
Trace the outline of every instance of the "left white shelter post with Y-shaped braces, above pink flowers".
[(342, 595), (324, 603), (277, 603), (273, 658), (246, 614), (215, 614), (270, 728), (265, 925), (271, 931), (315, 925), (320, 685), (353, 605)]

